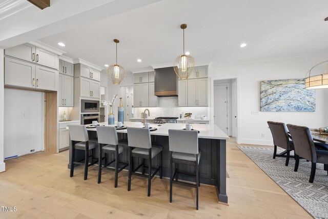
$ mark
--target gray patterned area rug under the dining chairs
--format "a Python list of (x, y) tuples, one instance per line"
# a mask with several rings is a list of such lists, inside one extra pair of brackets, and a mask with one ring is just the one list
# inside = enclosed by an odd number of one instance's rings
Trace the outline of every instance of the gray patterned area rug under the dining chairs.
[(290, 158), (286, 167), (285, 157), (272, 158), (273, 148), (237, 147), (314, 218), (328, 218), (328, 176), (322, 164), (317, 164), (312, 184), (309, 183), (311, 162), (301, 159), (298, 171), (294, 172), (294, 158)]

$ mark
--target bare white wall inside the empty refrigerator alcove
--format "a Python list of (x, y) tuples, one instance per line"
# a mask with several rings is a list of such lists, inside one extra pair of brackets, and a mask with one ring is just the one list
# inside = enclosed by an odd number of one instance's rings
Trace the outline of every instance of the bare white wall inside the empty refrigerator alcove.
[(5, 115), (4, 157), (44, 150), (43, 92), (5, 89)]

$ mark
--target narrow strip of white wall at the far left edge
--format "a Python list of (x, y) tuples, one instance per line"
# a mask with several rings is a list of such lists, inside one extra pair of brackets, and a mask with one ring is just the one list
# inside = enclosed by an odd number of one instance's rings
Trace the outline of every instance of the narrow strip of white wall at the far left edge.
[(5, 171), (4, 163), (4, 50), (0, 49), (0, 172)]

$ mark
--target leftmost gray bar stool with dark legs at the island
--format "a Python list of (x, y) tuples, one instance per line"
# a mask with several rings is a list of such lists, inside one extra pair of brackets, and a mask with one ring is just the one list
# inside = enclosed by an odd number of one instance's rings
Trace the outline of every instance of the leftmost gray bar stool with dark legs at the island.
[[(68, 129), (70, 132), (70, 138), (72, 141), (72, 153), (71, 153), (71, 171), (70, 177), (73, 176), (74, 173), (74, 164), (84, 165), (84, 180), (88, 178), (88, 167), (94, 165), (98, 162), (98, 160), (93, 159), (92, 151), (91, 151), (91, 163), (89, 164), (89, 150), (92, 150), (98, 147), (98, 143), (94, 141), (89, 141), (89, 135), (86, 126), (84, 125), (68, 125)], [(75, 149), (84, 150), (85, 158), (84, 163), (81, 163), (80, 160), (75, 162)]]

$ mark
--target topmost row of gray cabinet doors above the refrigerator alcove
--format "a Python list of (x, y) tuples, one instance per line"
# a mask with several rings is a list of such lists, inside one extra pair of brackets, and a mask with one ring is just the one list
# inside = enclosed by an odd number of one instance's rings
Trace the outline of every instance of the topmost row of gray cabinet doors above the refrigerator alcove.
[(57, 54), (28, 43), (6, 49), (5, 55), (53, 69), (59, 68), (59, 57)]

